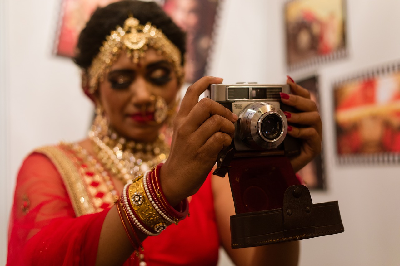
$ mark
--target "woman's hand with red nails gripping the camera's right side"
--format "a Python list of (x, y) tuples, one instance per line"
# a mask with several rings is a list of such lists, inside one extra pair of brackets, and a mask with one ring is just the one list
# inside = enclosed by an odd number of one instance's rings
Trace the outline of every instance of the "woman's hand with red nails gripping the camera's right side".
[[(311, 100), (310, 92), (296, 84), (289, 76), (286, 83), (292, 94), (281, 93), (282, 103), (299, 110), (298, 113), (285, 112), (288, 120), (288, 135), (302, 139), (300, 155), (291, 157), (290, 162), (295, 172), (307, 165), (322, 149), (322, 121), (318, 108)], [(299, 124), (304, 127), (294, 127)]]

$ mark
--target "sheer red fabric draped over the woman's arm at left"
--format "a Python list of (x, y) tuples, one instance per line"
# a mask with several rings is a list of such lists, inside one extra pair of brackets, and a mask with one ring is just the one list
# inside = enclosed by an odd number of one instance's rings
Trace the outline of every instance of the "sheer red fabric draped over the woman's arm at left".
[(31, 154), (18, 173), (7, 265), (94, 265), (108, 210), (76, 218), (57, 169)]

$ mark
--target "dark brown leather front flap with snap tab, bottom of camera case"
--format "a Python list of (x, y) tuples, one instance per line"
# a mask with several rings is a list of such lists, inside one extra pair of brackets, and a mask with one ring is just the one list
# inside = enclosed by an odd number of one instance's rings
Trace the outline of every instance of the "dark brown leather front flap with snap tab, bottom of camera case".
[(232, 248), (262, 246), (344, 231), (337, 201), (312, 204), (303, 185), (290, 186), (283, 208), (230, 216)]

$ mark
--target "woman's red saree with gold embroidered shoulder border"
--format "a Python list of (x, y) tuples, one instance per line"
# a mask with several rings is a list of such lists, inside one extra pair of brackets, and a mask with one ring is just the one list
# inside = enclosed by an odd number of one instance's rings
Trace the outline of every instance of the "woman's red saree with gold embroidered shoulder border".
[[(96, 164), (70, 145), (39, 149), (25, 159), (10, 217), (7, 265), (95, 265), (100, 230), (114, 202)], [(148, 266), (216, 265), (210, 177), (192, 197), (190, 217), (143, 245)], [(124, 265), (138, 265), (138, 258)]]

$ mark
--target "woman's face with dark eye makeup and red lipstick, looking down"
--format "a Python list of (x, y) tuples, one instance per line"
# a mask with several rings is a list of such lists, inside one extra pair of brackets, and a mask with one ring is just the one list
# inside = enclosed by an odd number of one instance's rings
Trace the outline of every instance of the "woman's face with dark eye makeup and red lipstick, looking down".
[(99, 100), (112, 128), (134, 141), (154, 141), (162, 124), (154, 121), (154, 99), (171, 104), (178, 93), (173, 65), (156, 50), (149, 49), (138, 63), (125, 52), (99, 83)]

